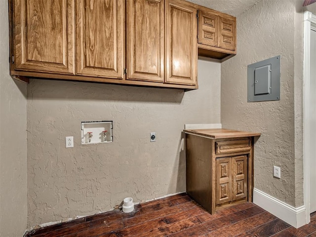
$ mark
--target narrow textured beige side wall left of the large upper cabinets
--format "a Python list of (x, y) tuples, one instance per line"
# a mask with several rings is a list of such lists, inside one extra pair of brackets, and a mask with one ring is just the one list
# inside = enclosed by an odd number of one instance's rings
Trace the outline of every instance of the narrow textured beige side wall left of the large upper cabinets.
[(0, 1), (0, 237), (27, 223), (26, 84), (9, 75), (8, 3)]

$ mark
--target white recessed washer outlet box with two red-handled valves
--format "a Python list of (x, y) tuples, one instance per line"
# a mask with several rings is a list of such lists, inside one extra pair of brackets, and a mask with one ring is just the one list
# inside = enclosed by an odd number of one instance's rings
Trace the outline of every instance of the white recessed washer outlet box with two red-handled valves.
[(113, 121), (81, 122), (81, 144), (113, 142)]

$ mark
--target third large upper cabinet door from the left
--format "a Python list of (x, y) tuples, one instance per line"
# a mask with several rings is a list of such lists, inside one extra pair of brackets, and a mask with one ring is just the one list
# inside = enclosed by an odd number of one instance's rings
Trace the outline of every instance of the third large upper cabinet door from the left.
[(127, 79), (164, 81), (164, 0), (127, 1)]

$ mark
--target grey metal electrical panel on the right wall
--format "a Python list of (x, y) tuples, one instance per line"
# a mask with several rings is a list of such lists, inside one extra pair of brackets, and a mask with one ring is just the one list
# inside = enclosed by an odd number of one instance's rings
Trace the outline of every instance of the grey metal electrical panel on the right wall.
[(248, 102), (280, 100), (280, 56), (248, 65)]

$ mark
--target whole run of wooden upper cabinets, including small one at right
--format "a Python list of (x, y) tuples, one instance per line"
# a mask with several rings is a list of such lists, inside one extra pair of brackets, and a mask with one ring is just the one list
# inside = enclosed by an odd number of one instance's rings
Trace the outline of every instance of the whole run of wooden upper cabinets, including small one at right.
[(236, 18), (185, 0), (8, 0), (10, 74), (197, 89), (236, 54)]

